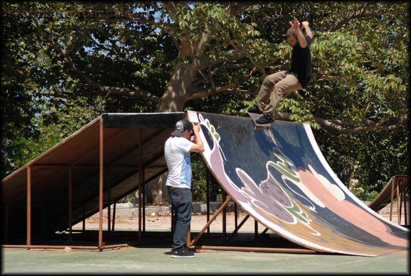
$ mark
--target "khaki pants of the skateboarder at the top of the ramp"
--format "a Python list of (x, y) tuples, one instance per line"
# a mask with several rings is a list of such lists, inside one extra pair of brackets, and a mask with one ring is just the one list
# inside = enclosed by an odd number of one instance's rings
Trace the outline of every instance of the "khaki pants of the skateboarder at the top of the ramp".
[(257, 96), (258, 108), (274, 119), (275, 109), (277, 109), (279, 101), (283, 97), (287, 97), (292, 91), (300, 89), (303, 89), (303, 87), (300, 82), (298, 82), (296, 74), (294, 73), (281, 71), (269, 75), (264, 79), (263, 84), (261, 84)]

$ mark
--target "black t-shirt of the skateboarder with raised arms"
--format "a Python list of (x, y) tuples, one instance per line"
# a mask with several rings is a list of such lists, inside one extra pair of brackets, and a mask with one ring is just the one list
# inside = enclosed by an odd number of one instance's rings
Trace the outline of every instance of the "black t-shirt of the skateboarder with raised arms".
[(311, 51), (310, 44), (312, 39), (306, 35), (305, 40), (307, 46), (302, 48), (300, 43), (294, 46), (291, 53), (291, 72), (297, 73), (297, 79), (301, 86), (306, 87), (311, 80), (312, 65), (311, 65)]

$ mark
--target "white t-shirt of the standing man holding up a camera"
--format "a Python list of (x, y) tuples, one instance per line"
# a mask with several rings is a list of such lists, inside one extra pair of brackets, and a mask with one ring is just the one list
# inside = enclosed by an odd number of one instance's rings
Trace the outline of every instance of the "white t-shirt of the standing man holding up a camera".
[(166, 186), (191, 189), (190, 150), (193, 142), (172, 136), (164, 144), (164, 157), (169, 168)]

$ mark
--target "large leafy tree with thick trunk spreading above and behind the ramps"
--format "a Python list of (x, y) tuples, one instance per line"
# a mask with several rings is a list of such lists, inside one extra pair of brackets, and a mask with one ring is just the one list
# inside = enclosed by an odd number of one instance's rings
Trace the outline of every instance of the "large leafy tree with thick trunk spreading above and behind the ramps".
[[(13, 129), (38, 132), (35, 116), (57, 121), (68, 99), (96, 112), (195, 107), (244, 115), (264, 77), (289, 67), (284, 34), (294, 15), (314, 32), (314, 76), (281, 102), (276, 117), (336, 135), (408, 132), (408, 8), (406, 2), (6, 2), (4, 138), (21, 135)], [(50, 107), (55, 111), (44, 112)]]

